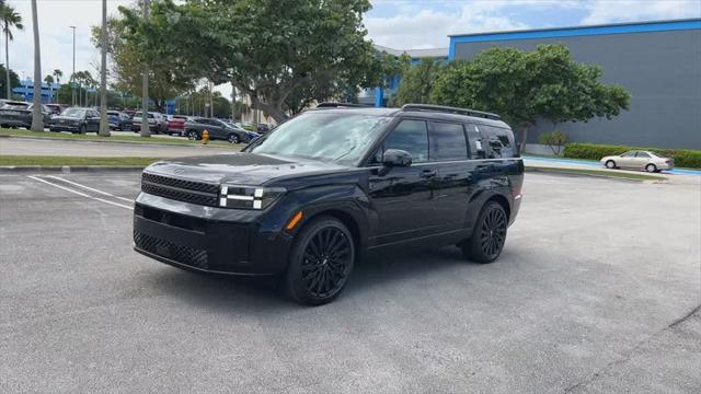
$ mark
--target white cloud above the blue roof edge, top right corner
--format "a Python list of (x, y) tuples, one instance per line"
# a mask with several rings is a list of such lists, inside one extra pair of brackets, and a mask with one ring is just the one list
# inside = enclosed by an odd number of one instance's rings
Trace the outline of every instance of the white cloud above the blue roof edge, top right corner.
[(701, 16), (699, 0), (595, 0), (587, 8), (584, 24)]

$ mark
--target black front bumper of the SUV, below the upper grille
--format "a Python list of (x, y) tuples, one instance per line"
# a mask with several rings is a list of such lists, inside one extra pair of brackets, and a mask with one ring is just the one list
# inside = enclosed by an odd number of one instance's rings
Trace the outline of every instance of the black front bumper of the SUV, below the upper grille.
[(141, 193), (134, 213), (135, 250), (189, 270), (275, 275), (287, 266), (292, 237), (262, 230), (262, 215)]

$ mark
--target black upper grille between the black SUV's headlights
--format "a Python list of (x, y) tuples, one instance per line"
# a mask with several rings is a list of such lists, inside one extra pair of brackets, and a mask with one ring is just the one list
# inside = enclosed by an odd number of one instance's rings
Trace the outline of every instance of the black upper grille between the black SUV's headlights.
[(143, 173), (141, 192), (179, 201), (218, 206), (219, 185)]

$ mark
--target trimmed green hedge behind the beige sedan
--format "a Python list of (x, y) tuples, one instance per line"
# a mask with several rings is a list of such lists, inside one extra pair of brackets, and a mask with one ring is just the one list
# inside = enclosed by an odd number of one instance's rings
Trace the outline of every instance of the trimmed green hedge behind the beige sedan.
[(701, 169), (701, 151), (690, 149), (658, 149), (609, 146), (597, 143), (567, 143), (563, 155), (570, 159), (600, 160), (604, 157), (621, 154), (629, 150), (646, 150), (675, 160), (675, 166)]

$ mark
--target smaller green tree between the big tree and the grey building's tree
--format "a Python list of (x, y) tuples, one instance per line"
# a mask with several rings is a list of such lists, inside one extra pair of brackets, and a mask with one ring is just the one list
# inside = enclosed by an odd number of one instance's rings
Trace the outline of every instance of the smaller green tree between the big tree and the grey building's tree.
[(443, 60), (432, 58), (422, 59), (414, 67), (410, 63), (410, 67), (402, 70), (402, 81), (397, 94), (392, 97), (392, 106), (402, 106), (407, 103), (432, 103), (430, 92), (446, 68)]

